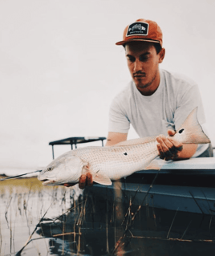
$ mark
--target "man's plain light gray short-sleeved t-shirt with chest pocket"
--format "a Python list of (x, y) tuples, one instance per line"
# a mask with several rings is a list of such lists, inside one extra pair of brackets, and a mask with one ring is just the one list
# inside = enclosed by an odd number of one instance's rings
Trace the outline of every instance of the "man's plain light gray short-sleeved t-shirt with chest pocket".
[[(189, 113), (197, 108), (200, 124), (205, 123), (201, 95), (193, 80), (160, 70), (160, 84), (150, 96), (137, 90), (133, 81), (116, 95), (109, 112), (109, 132), (128, 133), (130, 124), (140, 137), (167, 135), (177, 130)], [(200, 155), (208, 144), (199, 145), (194, 156)]]

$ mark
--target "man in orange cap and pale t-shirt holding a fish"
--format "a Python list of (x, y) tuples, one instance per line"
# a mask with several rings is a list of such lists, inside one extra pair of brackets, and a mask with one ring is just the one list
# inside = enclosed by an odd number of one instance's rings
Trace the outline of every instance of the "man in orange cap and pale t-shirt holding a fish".
[[(181, 144), (172, 137), (194, 108), (200, 124), (205, 114), (195, 82), (159, 69), (165, 55), (162, 44), (160, 27), (145, 19), (128, 25), (123, 41), (116, 43), (124, 46), (132, 81), (112, 101), (106, 146), (127, 140), (132, 124), (140, 137), (160, 134), (156, 140), (161, 159), (213, 156), (211, 144)], [(92, 185), (90, 173), (80, 177), (79, 187), (85, 185)]]

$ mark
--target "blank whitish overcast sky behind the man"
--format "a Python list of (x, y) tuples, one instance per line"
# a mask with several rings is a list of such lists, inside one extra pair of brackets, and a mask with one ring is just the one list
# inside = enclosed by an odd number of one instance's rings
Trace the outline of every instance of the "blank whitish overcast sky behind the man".
[(109, 105), (130, 80), (115, 43), (137, 18), (163, 30), (160, 67), (199, 84), (215, 146), (214, 10), (214, 0), (0, 0), (0, 168), (47, 165), (52, 140), (107, 136)]

